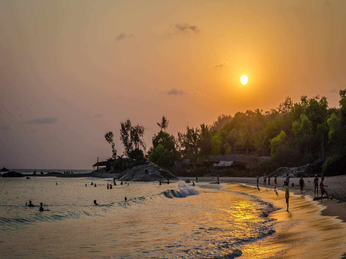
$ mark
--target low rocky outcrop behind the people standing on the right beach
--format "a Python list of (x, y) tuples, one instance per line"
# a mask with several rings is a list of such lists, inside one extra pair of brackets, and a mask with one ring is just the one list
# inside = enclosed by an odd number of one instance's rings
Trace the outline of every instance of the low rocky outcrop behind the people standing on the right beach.
[(280, 167), (270, 174), (271, 177), (307, 177), (310, 174), (320, 174), (322, 172), (323, 159), (318, 159), (311, 164), (299, 167)]

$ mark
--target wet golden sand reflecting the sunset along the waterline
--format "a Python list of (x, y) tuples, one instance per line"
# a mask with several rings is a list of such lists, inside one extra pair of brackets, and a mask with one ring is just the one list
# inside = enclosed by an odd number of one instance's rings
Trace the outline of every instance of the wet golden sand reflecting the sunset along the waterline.
[(312, 201), (311, 195), (300, 195), (299, 190), (299, 193), (294, 190), (290, 193), (287, 212), (283, 188), (274, 192), (270, 188), (257, 188), (255, 184), (205, 184), (202, 180), (199, 179), (198, 183), (201, 187), (244, 192), (279, 208), (268, 215), (277, 222), (273, 236), (242, 248), (240, 258), (345, 258), (344, 219), (321, 213), (328, 209), (327, 212), (345, 216), (340, 210), (340, 203)]

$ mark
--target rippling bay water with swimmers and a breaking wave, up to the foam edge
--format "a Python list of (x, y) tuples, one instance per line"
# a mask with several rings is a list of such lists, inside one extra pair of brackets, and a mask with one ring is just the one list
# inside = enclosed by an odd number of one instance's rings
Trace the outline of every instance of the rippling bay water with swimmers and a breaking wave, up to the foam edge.
[[(1, 179), (0, 257), (234, 258), (275, 233), (266, 217), (275, 208), (253, 195), (183, 182), (107, 183)], [(37, 207), (25, 207), (29, 200)]]

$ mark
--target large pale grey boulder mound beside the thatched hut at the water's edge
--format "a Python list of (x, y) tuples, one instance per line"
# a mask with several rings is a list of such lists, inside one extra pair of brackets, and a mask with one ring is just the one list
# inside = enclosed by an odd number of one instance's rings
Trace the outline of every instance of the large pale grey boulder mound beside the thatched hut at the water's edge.
[(124, 174), (119, 178), (119, 181), (151, 182), (167, 179), (177, 180), (174, 174), (150, 161), (145, 161), (144, 165), (135, 166), (122, 173)]

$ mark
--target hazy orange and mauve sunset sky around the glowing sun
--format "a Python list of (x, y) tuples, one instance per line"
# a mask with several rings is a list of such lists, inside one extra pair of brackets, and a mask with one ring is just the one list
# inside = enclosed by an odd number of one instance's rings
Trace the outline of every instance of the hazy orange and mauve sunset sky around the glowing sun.
[[(0, 0), (0, 168), (92, 169), (160, 129), (346, 88), (346, 1)], [(248, 76), (242, 85), (240, 77)]]

